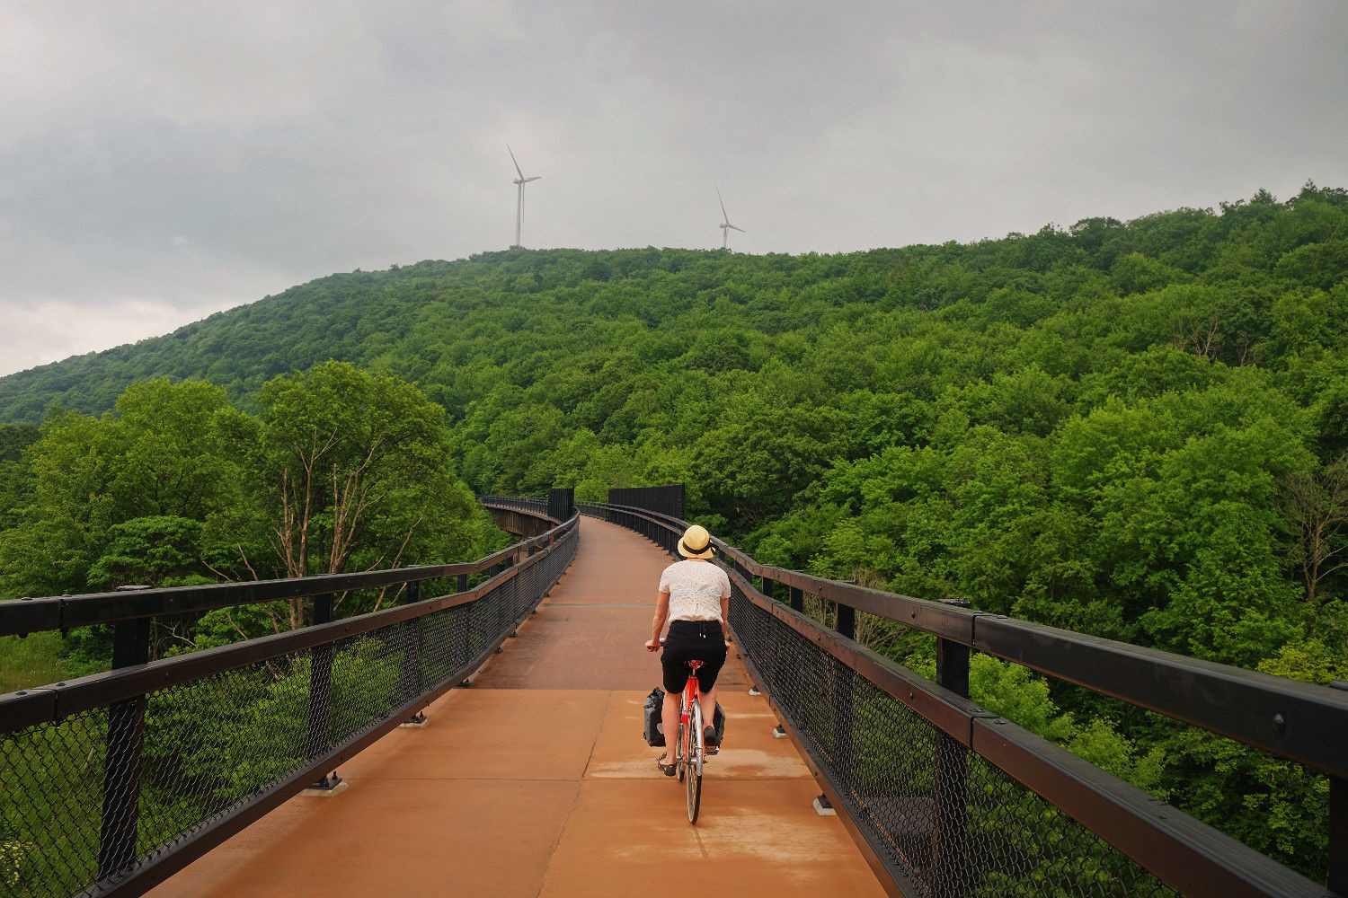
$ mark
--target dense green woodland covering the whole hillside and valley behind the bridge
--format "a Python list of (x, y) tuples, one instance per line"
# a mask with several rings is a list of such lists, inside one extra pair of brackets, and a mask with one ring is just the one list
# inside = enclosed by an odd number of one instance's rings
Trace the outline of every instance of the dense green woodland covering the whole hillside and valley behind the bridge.
[[(682, 481), (762, 561), (1348, 679), (1339, 188), (968, 245), (357, 271), (0, 378), (0, 598), (457, 560), (497, 539), (469, 486)], [(989, 658), (973, 691), (1324, 875), (1322, 777)]]

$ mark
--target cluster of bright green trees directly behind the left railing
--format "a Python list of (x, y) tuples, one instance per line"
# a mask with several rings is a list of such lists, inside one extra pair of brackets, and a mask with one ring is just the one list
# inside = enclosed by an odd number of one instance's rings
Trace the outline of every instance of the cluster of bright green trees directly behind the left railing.
[[(101, 419), (58, 411), (40, 431), (7, 431), (19, 458), (0, 464), (16, 467), (24, 489), (4, 494), (12, 525), (0, 530), (0, 598), (488, 552), (497, 532), (454, 474), (443, 409), (415, 386), (329, 362), (275, 378), (259, 405), (253, 417), (218, 386), (160, 378), (131, 386)], [(357, 614), (390, 598), (349, 594), (337, 605)], [(305, 623), (301, 609), (160, 618), (151, 650), (160, 657), (290, 629)], [(108, 626), (71, 630), (59, 666), (105, 669), (111, 638)]]

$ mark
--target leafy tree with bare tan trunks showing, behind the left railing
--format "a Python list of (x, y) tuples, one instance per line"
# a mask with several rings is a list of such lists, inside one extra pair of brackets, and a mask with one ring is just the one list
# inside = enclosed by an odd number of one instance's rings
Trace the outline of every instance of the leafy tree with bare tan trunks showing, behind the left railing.
[(453, 470), (445, 411), (345, 362), (278, 377), (259, 397), (263, 493), (282, 510), (288, 576), (462, 557), (484, 536)]

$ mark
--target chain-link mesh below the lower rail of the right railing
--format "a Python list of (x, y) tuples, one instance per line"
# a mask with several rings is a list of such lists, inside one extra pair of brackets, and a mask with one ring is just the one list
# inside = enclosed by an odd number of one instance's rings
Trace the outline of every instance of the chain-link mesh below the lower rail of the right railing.
[[(1173, 895), (1155, 876), (733, 586), (772, 701), (913, 895)], [(907, 894), (907, 893), (906, 893)]]

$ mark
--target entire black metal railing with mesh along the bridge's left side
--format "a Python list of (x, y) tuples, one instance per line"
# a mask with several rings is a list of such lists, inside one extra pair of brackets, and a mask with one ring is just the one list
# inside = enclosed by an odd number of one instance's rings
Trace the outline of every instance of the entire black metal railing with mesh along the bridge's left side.
[[(142, 894), (336, 770), (485, 662), (577, 521), (468, 564), (0, 605), (0, 633), (117, 626), (113, 670), (0, 696), (0, 895)], [(422, 599), (439, 578), (460, 591)], [(333, 592), (391, 584), (404, 605), (330, 619)], [(154, 615), (295, 596), (313, 626), (146, 661)]]

